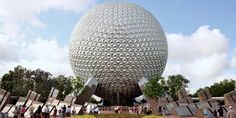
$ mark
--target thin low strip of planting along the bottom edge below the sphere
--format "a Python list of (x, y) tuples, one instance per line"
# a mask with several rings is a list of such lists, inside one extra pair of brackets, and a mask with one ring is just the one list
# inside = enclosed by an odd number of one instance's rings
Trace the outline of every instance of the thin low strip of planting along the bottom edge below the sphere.
[(93, 114), (93, 115), (78, 115), (71, 118), (164, 118), (155, 115), (136, 115), (136, 114)]

